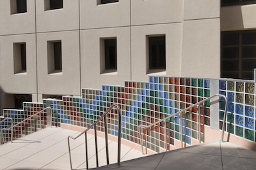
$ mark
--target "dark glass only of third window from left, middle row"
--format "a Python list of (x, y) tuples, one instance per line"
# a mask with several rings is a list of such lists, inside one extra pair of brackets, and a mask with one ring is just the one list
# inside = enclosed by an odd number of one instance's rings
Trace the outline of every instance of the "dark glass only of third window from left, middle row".
[(105, 69), (116, 69), (116, 38), (104, 39)]

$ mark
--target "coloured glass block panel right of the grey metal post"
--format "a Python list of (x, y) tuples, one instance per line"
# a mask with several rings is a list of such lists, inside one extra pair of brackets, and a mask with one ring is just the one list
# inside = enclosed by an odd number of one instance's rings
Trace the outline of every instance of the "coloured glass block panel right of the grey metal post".
[[(255, 83), (220, 80), (220, 94), (228, 98), (225, 130), (250, 141), (255, 139)], [(224, 102), (220, 104), (220, 129), (223, 125)]]

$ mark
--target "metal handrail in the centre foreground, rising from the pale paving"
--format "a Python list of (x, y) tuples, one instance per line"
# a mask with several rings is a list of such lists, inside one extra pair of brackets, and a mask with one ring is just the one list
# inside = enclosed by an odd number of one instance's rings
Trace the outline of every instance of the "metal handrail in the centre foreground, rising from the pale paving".
[(88, 146), (87, 146), (87, 131), (89, 131), (90, 129), (92, 129), (94, 127), (94, 133), (95, 133), (95, 154), (96, 154), (96, 164), (97, 167), (99, 167), (99, 159), (98, 159), (98, 145), (97, 145), (97, 124), (100, 122), (100, 120), (102, 120), (104, 118), (104, 129), (105, 129), (105, 143), (106, 143), (106, 160), (107, 160), (107, 165), (109, 164), (109, 152), (108, 152), (108, 125), (107, 125), (107, 117), (106, 115), (109, 113), (109, 111), (112, 110), (113, 107), (116, 107), (118, 109), (118, 155), (117, 155), (117, 166), (116, 167), (120, 167), (120, 159), (121, 159), (121, 132), (122, 132), (122, 127), (121, 127), (121, 123), (122, 123), (122, 113), (120, 110), (120, 107), (117, 104), (112, 104), (110, 106), (110, 108), (100, 117), (97, 119), (97, 121), (95, 121), (92, 125), (90, 125), (90, 127), (88, 127), (88, 129), (84, 130), (83, 132), (81, 132), (79, 135), (77, 135), (76, 137), (73, 136), (68, 136), (68, 152), (69, 152), (69, 159), (70, 159), (70, 167), (72, 170), (74, 170), (72, 168), (72, 160), (71, 160), (71, 151), (70, 151), (70, 142), (69, 139), (74, 139), (76, 140), (77, 138), (79, 138), (80, 136), (82, 136), (84, 134), (84, 138), (85, 138), (85, 152), (86, 152), (86, 169), (88, 169)]

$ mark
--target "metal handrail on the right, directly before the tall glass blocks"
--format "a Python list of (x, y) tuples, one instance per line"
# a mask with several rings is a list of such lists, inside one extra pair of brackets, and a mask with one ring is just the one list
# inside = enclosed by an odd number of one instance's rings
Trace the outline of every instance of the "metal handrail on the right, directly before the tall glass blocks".
[[(222, 94), (214, 94), (213, 96), (210, 96), (210, 97), (208, 97), (207, 99), (204, 99), (204, 100), (202, 100), (202, 101), (200, 101), (200, 102), (198, 102), (198, 103), (195, 103), (195, 104), (193, 104), (193, 105), (191, 105), (191, 106), (189, 106), (188, 108), (185, 108), (184, 110), (180, 110), (180, 111), (178, 111), (177, 113), (175, 113), (175, 114), (173, 114), (173, 115), (170, 115), (170, 116), (168, 116), (168, 117), (166, 117), (166, 118), (163, 118), (162, 120), (159, 120), (159, 121), (157, 121), (157, 122), (155, 122), (154, 124), (151, 124), (151, 125), (140, 125), (140, 127), (139, 127), (139, 133), (140, 133), (140, 143), (141, 143), (141, 150), (142, 150), (142, 153), (144, 154), (144, 152), (143, 152), (143, 143), (142, 143), (142, 136), (141, 136), (141, 129), (142, 128), (145, 128), (145, 129), (148, 129), (148, 128), (150, 128), (150, 127), (152, 127), (152, 126), (154, 126), (154, 125), (157, 125), (157, 124), (160, 124), (161, 122), (164, 122), (164, 143), (165, 143), (165, 147), (166, 147), (166, 151), (167, 151), (167, 143), (166, 143), (166, 121), (169, 119), (169, 118), (171, 118), (171, 117), (174, 117), (174, 116), (176, 116), (176, 115), (180, 115), (180, 141), (181, 141), (181, 147), (183, 147), (182, 146), (182, 143), (183, 143), (183, 136), (182, 136), (182, 112), (184, 112), (184, 111), (187, 111), (187, 110), (190, 110), (191, 108), (193, 108), (193, 107), (195, 107), (195, 106), (199, 106), (199, 109), (198, 109), (198, 139), (199, 139), (199, 142), (201, 143), (201, 119), (200, 119), (200, 105), (202, 104), (202, 103), (204, 103), (205, 101), (208, 101), (209, 99), (212, 99), (213, 97), (216, 97), (216, 96), (218, 96), (218, 97), (223, 97), (224, 99), (225, 99), (225, 111), (224, 111), (224, 117), (223, 117), (223, 126), (222, 126), (222, 132), (221, 132), (221, 142), (223, 142), (223, 138), (224, 138), (224, 132), (225, 132), (225, 123), (226, 123), (226, 118), (227, 118), (227, 104), (228, 104), (228, 100), (227, 100), (227, 97), (226, 96), (224, 96), (224, 95), (222, 95)], [(147, 140), (147, 138), (146, 138), (146, 140)], [(146, 141), (146, 146), (145, 146), (145, 151), (146, 151), (146, 154), (147, 154), (147, 148), (148, 148), (148, 146), (147, 146), (147, 141)]]

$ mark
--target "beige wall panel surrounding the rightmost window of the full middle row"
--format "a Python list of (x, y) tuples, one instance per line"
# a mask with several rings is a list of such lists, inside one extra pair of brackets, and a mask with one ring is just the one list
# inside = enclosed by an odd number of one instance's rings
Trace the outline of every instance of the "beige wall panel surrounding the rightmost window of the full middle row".
[(147, 66), (147, 36), (163, 34), (166, 39), (166, 71), (155, 71), (154, 74), (179, 76), (182, 24), (141, 25), (132, 27), (132, 80), (148, 81), (152, 71)]

